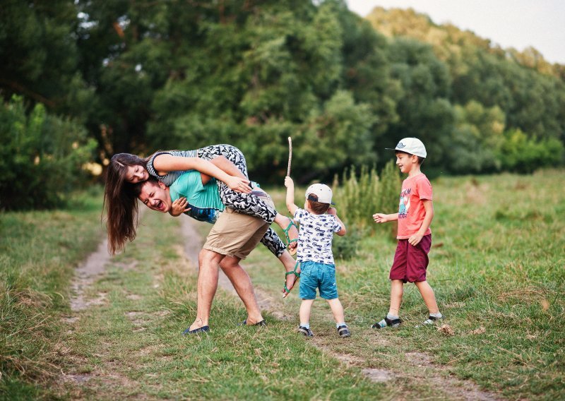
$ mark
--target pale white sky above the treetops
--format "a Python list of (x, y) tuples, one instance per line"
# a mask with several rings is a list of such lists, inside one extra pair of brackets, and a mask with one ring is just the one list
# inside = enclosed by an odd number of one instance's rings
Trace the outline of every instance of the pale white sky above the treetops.
[(346, 0), (367, 16), (376, 6), (414, 8), (434, 23), (452, 23), (501, 47), (533, 46), (550, 63), (565, 64), (565, 0)]

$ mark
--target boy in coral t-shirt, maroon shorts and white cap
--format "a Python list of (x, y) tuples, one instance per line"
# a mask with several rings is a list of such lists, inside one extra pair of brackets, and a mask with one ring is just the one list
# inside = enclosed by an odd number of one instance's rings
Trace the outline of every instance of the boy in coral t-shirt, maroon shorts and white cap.
[(417, 138), (404, 138), (396, 145), (396, 164), (400, 172), (408, 174), (402, 183), (398, 213), (384, 215), (375, 213), (377, 223), (398, 220), (398, 245), (391, 268), (391, 306), (386, 318), (372, 328), (398, 327), (402, 320), (398, 316), (402, 302), (404, 283), (413, 282), (420, 291), (429, 310), (424, 325), (431, 325), (443, 318), (436, 303), (434, 290), (426, 281), (429, 263), (428, 253), (432, 246), (432, 230), (429, 225), (434, 218), (432, 184), (420, 171), (427, 156), (426, 148)]

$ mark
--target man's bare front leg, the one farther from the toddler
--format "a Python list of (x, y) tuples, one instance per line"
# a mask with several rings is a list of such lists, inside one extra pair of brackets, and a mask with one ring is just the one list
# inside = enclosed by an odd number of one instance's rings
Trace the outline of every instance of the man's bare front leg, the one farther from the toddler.
[(202, 249), (198, 254), (198, 297), (196, 319), (189, 330), (208, 325), (212, 300), (218, 289), (218, 267), (224, 258), (220, 253)]

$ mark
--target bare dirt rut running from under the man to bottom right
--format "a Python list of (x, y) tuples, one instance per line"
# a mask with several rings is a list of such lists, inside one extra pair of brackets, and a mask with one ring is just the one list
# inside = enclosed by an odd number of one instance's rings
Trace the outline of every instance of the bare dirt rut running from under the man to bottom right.
[[(182, 234), (186, 239), (190, 239), (190, 241), (185, 241), (186, 246), (184, 251), (186, 253), (186, 258), (191, 261), (191, 264), (194, 265), (195, 268), (198, 268), (198, 252), (203, 245), (203, 239), (200, 237), (198, 232), (196, 232), (196, 229), (194, 229), (194, 223), (190, 219), (182, 219)], [(221, 271), (218, 284), (222, 289), (235, 294), (232, 283), (223, 273), (221, 273)], [(255, 295), (262, 311), (268, 311), (279, 320), (287, 321), (294, 318), (293, 316), (288, 316), (282, 312), (283, 308), (278, 306), (278, 304), (280, 304), (280, 300), (277, 300), (266, 292), (257, 289), (255, 291)], [(331, 313), (328, 313), (327, 318), (330, 321), (333, 320)], [(313, 340), (312, 344), (321, 349), (324, 353), (338, 359), (346, 366), (357, 366), (361, 368), (362, 373), (369, 378), (369, 380), (375, 383), (383, 383), (393, 380), (426, 381), (427, 383), (432, 383), (436, 388), (441, 390), (442, 393), (445, 393), (453, 400), (494, 401), (501, 399), (494, 393), (481, 390), (478, 385), (471, 381), (463, 381), (454, 376), (450, 376), (448, 368), (434, 364), (432, 362), (432, 358), (423, 352), (410, 352), (405, 354), (406, 361), (410, 364), (410, 367), (417, 371), (416, 374), (407, 374), (388, 369), (363, 368), (364, 361), (361, 358), (352, 354), (335, 352), (331, 349), (331, 347), (325, 344), (325, 341), (320, 340), (319, 337), (314, 337)]]

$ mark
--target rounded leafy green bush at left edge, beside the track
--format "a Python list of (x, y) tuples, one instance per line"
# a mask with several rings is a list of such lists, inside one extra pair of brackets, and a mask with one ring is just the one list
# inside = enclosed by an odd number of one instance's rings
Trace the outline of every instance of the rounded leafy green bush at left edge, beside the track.
[(80, 124), (47, 114), (42, 104), (25, 114), (14, 96), (0, 107), (0, 208), (25, 210), (62, 205), (85, 185), (83, 164), (95, 142)]

